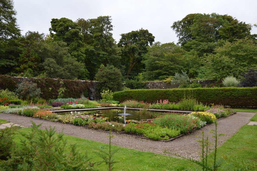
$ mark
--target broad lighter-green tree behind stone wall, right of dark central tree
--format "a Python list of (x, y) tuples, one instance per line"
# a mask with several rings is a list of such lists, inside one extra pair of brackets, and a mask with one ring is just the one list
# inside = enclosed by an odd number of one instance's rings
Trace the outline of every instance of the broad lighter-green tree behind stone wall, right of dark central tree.
[(174, 43), (154, 43), (144, 59), (145, 72), (142, 74), (145, 80), (163, 80), (181, 70), (193, 70), (200, 65), (195, 52), (187, 52)]

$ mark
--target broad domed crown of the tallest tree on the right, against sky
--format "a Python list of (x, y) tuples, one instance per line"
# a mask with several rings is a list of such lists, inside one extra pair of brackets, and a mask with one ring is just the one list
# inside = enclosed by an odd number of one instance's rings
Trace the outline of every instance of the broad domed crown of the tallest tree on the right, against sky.
[(216, 13), (188, 14), (182, 20), (174, 22), (171, 28), (176, 32), (179, 44), (187, 51), (196, 50), (199, 56), (213, 53), (218, 40), (233, 42), (252, 37), (250, 24)]

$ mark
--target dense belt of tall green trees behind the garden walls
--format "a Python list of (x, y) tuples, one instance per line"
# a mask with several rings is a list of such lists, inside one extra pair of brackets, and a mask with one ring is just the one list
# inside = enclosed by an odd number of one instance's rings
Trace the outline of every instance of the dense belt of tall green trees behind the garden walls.
[(178, 44), (154, 43), (146, 29), (123, 33), (116, 42), (111, 16), (52, 19), (50, 33), (20, 35), (15, 16), (13, 1), (0, 1), (0, 74), (97, 79), (102, 88), (117, 91), (122, 81), (144, 88), (146, 80), (182, 71), (189, 78), (219, 81), (226, 76), (242, 79), (247, 70), (257, 69), (252, 25), (227, 14), (195, 13), (175, 21), (171, 28)]

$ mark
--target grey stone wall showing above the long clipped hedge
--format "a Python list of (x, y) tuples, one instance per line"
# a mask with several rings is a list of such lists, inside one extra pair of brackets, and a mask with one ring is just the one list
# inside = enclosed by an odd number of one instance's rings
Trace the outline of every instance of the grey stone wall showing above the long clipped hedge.
[[(192, 84), (193, 82), (200, 83), (202, 87), (206, 87), (206, 86), (212, 86), (212, 84), (215, 84), (216, 80), (198, 79), (198, 80), (188, 81), (189, 84)], [(178, 88), (179, 84), (171, 84), (171, 83), (166, 83), (164, 81), (151, 81), (151, 82), (145, 83), (145, 86), (148, 87), (148, 89), (169, 89), (169, 88)]]

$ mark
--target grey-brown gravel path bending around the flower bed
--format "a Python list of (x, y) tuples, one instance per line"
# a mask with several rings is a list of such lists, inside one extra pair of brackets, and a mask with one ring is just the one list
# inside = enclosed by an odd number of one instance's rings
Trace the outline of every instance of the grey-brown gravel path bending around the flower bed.
[[(238, 129), (240, 129), (244, 124), (248, 123), (250, 118), (254, 114), (255, 113), (251, 112), (237, 112), (234, 115), (218, 120), (218, 134), (225, 134), (225, 136), (221, 136), (218, 138), (218, 145), (220, 146), (234, 133), (236, 133)], [(30, 121), (33, 121), (36, 124), (43, 123), (40, 127), (42, 129), (44, 129), (45, 127), (49, 127), (51, 125), (56, 127), (57, 132), (60, 132), (63, 129), (63, 133), (70, 136), (85, 138), (103, 143), (109, 142), (108, 137), (106, 137), (108, 133), (106, 132), (89, 130), (85, 128), (75, 127), (72, 125), (64, 125), (61, 123), (48, 122), (5, 113), (0, 113), (0, 119), (24, 125), (25, 127), (29, 127), (31, 125)], [(149, 139), (142, 139), (115, 134), (115, 137), (112, 139), (112, 144), (141, 151), (150, 151), (158, 154), (163, 154), (164, 150), (169, 150), (183, 156), (197, 158), (198, 153), (200, 151), (200, 147), (198, 143), (195, 142), (195, 140), (197, 140), (195, 136), (201, 136), (201, 132), (204, 131), (206, 135), (210, 137), (210, 129), (214, 129), (214, 124), (206, 125), (204, 128), (201, 128), (200, 130), (196, 130), (191, 134), (182, 136), (178, 139), (169, 142), (152, 141)]]

